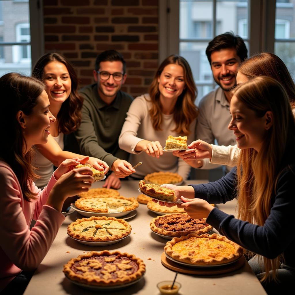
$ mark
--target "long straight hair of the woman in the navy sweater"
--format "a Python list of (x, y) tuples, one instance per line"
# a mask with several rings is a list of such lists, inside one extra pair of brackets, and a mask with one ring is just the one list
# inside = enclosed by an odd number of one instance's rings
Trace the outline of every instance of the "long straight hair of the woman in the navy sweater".
[[(259, 153), (253, 148), (242, 149), (237, 164), (238, 218), (263, 226), (270, 214), (278, 178), (289, 163), (295, 162), (295, 121), (285, 89), (273, 78), (253, 78), (237, 86), (233, 93), (258, 117), (267, 111), (273, 114), (273, 125)], [(258, 258), (265, 266), (262, 281), (276, 280), (275, 270), (283, 260), (282, 254), (274, 259), (261, 255)]]

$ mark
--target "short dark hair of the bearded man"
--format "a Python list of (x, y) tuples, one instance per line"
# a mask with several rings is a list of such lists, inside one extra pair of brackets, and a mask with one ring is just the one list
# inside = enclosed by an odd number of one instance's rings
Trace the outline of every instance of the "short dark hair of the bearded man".
[(248, 57), (248, 50), (244, 43), (244, 40), (240, 36), (234, 35), (233, 32), (226, 32), (224, 34), (216, 36), (212, 41), (209, 42), (206, 48), (206, 55), (210, 65), (212, 52), (219, 51), (224, 48), (235, 48), (241, 62)]

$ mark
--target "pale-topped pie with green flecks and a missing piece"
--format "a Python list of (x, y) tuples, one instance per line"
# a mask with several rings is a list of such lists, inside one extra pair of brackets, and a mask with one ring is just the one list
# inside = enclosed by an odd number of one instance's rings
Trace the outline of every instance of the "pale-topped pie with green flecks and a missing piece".
[(138, 202), (123, 196), (87, 197), (78, 199), (75, 206), (87, 212), (114, 213), (134, 210), (138, 207)]

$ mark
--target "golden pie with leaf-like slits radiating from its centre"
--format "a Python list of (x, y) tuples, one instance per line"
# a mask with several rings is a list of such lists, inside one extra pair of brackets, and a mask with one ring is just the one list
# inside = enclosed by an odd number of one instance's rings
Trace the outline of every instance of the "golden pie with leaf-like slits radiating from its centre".
[(89, 242), (106, 242), (127, 237), (131, 226), (123, 219), (114, 217), (90, 217), (77, 219), (68, 226), (68, 235)]

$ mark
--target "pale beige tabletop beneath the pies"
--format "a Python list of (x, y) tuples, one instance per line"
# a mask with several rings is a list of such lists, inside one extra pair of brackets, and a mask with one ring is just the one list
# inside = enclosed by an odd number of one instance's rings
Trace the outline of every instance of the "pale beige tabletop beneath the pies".
[[(191, 180), (190, 183), (206, 183), (206, 180)], [(101, 187), (104, 181), (94, 183), (93, 187)], [(122, 181), (120, 194), (126, 197), (134, 197), (139, 193), (138, 181)], [(235, 215), (236, 200), (220, 204), (218, 208), (228, 214)], [(65, 278), (62, 270), (63, 265), (71, 258), (87, 253), (89, 251), (119, 250), (134, 254), (141, 258), (146, 264), (146, 273), (144, 278), (119, 291), (108, 292), (110, 294), (160, 294), (157, 283), (160, 281), (173, 279), (175, 273), (161, 264), (160, 256), (167, 240), (159, 237), (150, 230), (150, 221), (156, 217), (156, 214), (148, 210), (146, 205), (140, 204), (137, 208), (137, 216), (127, 220), (132, 226), (132, 232), (129, 237), (121, 242), (109, 246), (87, 246), (72, 240), (67, 235), (67, 226), (77, 218), (81, 218), (76, 212), (68, 215), (63, 222), (58, 234), (50, 247), (47, 255), (38, 267), (32, 277), (26, 291), (26, 295), (46, 295), (46, 294), (106, 294), (106, 292), (91, 292), (82, 289)], [(217, 232), (214, 230), (214, 232)], [(66, 253), (69, 251), (70, 253)], [(148, 260), (151, 258), (151, 260)], [(258, 279), (254, 275), (250, 266), (245, 265), (232, 273), (215, 276), (195, 276), (178, 274), (177, 281), (182, 284), (179, 294), (266, 294)]]

